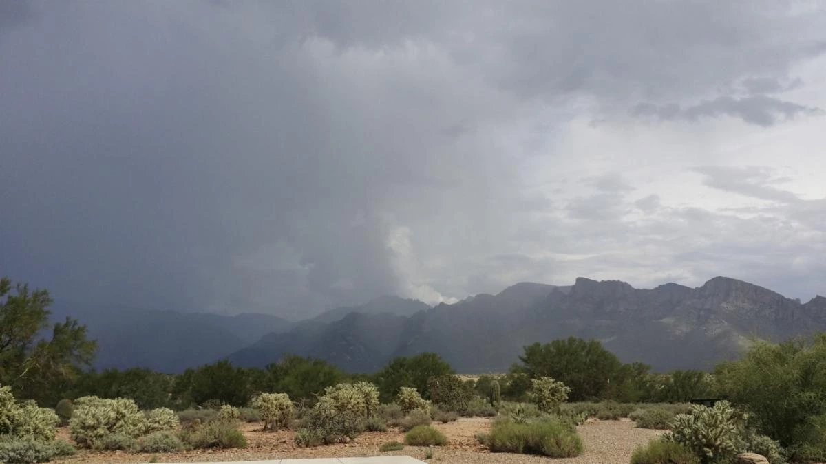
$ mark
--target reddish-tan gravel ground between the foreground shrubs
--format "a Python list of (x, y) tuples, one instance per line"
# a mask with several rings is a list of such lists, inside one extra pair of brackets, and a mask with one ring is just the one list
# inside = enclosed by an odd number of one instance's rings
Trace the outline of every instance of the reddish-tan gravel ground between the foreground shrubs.
[[(479, 445), (474, 438), (477, 432), (487, 432), (491, 428), (491, 419), (463, 418), (450, 424), (434, 424), (444, 433), (449, 444), (446, 447), (405, 447), (398, 452), (378, 452), (382, 443), (389, 441), (404, 442), (404, 434), (395, 428), (387, 432), (363, 433), (354, 443), (330, 445), (314, 448), (299, 448), (292, 442), (292, 432), (279, 431), (263, 433), (259, 424), (244, 424), (244, 434), (249, 447), (240, 450), (198, 450), (192, 452), (131, 454), (125, 452), (78, 452), (62, 462), (90, 462), (103, 464), (109, 462), (216, 462), (244, 461), (259, 459), (283, 459), (297, 457), (369, 457), (406, 455), (425, 461), (428, 451), (433, 458), (428, 462), (456, 462), (465, 464), (528, 464), (539, 462), (558, 462), (560, 464), (622, 464), (629, 462), (634, 447), (647, 443), (649, 439), (662, 433), (658, 430), (635, 428), (629, 420), (589, 420), (578, 430), (582, 435), (585, 452), (580, 457), (568, 459), (550, 459), (548, 457), (526, 456), (522, 454), (492, 453)], [(59, 438), (68, 439), (68, 432), (59, 430)]]

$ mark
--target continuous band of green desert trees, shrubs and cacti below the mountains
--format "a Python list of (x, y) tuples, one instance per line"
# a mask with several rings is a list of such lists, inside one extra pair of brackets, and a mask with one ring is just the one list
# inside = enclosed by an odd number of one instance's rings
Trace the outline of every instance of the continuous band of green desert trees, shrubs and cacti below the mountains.
[[(657, 431), (629, 456), (636, 464), (717, 464), (742, 452), (826, 460), (826, 335), (755, 341), (713, 372), (653, 373), (573, 338), (534, 343), (509, 372), (472, 378), (436, 353), (366, 374), (297, 356), (263, 369), (217, 361), (179, 374), (95, 372), (95, 344), (76, 321), (38, 338), (48, 293), (3, 279), (0, 296), (0, 462), (243, 448), (250, 430), (288, 433), (301, 448), (370, 433), (397, 434), (376, 452), (450, 447), (444, 430), (462, 418), (491, 418), (473, 423), (485, 424), (475, 446), (491, 452), (577, 457), (588, 424), (624, 419)], [(719, 400), (689, 403), (698, 398)]]

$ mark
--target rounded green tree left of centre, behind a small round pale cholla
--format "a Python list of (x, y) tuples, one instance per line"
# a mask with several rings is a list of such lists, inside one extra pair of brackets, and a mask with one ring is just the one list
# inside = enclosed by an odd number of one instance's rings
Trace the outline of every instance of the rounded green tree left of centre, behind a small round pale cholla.
[(329, 362), (311, 357), (287, 356), (264, 368), (263, 391), (286, 393), (294, 401), (315, 402), (325, 388), (344, 381), (344, 372)]

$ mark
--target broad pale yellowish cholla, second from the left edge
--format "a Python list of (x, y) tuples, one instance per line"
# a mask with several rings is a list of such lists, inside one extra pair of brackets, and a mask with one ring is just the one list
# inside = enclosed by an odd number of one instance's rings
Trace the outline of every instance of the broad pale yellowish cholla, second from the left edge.
[(111, 433), (139, 437), (146, 428), (146, 418), (134, 400), (105, 400), (84, 396), (74, 402), (69, 433), (81, 447), (93, 447)]

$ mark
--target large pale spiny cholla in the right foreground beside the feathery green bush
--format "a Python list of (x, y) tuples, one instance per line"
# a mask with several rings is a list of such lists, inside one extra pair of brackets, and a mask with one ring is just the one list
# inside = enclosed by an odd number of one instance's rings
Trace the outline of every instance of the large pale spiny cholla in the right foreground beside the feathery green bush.
[(734, 410), (728, 401), (719, 401), (713, 408), (692, 405), (689, 414), (677, 414), (672, 431), (664, 438), (687, 447), (704, 463), (733, 457), (738, 451), (741, 427), (745, 416)]

